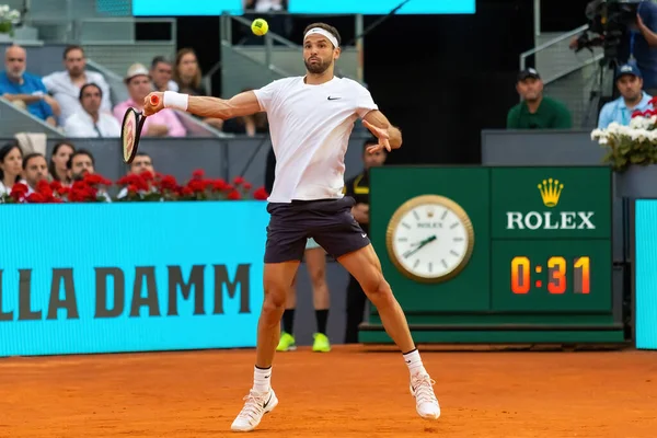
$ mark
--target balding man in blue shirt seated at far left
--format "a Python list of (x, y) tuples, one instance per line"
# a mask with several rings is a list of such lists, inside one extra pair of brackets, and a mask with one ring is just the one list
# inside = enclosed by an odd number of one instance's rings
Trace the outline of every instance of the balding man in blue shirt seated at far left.
[(0, 72), (0, 95), (25, 108), (30, 114), (51, 126), (57, 126), (55, 117), (59, 104), (48, 95), (41, 78), (25, 71), (27, 54), (21, 46), (9, 46), (4, 53), (4, 68)]

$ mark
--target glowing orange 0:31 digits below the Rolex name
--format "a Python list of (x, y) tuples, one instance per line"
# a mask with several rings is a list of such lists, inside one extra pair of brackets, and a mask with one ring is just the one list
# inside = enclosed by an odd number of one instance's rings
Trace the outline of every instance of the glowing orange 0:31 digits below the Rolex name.
[[(572, 286), (575, 293), (590, 293), (591, 289), (591, 263), (589, 256), (566, 260), (562, 256), (552, 256), (543, 265), (532, 265), (527, 256), (516, 256), (511, 260), (511, 291), (517, 295), (528, 293), (532, 288), (543, 288), (552, 295), (563, 295)], [(543, 272), (546, 270), (546, 281), (543, 281)], [(568, 279), (572, 276), (572, 285)], [(538, 278), (537, 278), (538, 277)]]

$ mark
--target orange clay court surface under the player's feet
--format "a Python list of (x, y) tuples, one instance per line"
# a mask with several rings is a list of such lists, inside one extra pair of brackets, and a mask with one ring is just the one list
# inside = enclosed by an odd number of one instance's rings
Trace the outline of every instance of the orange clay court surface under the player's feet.
[[(253, 350), (0, 359), (0, 437), (222, 437)], [(657, 353), (435, 351), (437, 422), (420, 419), (399, 354), (279, 354), (266, 437), (654, 437)], [(238, 435), (239, 436), (239, 435)]]

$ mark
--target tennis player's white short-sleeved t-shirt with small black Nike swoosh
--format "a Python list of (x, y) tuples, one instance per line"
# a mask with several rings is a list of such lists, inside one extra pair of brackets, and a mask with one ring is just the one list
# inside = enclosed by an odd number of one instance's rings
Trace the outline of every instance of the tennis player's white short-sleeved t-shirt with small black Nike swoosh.
[(308, 85), (303, 77), (279, 79), (255, 90), (267, 112), (276, 153), (270, 203), (342, 198), (345, 153), (354, 122), (379, 107), (356, 81), (334, 77)]

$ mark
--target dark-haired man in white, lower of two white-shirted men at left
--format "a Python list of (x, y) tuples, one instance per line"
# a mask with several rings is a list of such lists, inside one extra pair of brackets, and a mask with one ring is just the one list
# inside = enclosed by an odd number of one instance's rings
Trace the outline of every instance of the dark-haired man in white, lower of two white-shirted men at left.
[(80, 110), (64, 125), (68, 137), (120, 137), (120, 125), (110, 113), (100, 111), (103, 90), (95, 83), (80, 89)]

